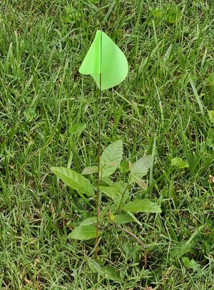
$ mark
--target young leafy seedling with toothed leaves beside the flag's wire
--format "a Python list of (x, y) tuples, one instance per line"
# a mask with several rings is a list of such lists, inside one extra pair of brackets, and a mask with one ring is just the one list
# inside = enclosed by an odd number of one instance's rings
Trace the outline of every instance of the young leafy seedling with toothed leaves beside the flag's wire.
[[(158, 204), (151, 202), (148, 199), (133, 198), (131, 192), (133, 187), (138, 185), (140, 190), (146, 190), (146, 182), (142, 179), (146, 176), (149, 168), (151, 167), (151, 155), (143, 156), (133, 164), (129, 161), (122, 161), (123, 157), (123, 143), (122, 140), (117, 140), (111, 145), (108, 145), (100, 158), (100, 185), (99, 190), (103, 196), (109, 199), (108, 205), (102, 209), (99, 214), (99, 222), (102, 223), (102, 228), (105, 227), (106, 222), (113, 224), (124, 232), (131, 234), (135, 237), (143, 247), (141, 239), (136, 237), (135, 234), (129, 232), (127, 229), (121, 227), (121, 224), (128, 222), (136, 222), (137, 219), (133, 215), (135, 212), (161, 212)], [(126, 181), (115, 180), (113, 173), (120, 170), (119, 176), (126, 175)], [(56, 176), (61, 178), (66, 185), (78, 192), (81, 198), (87, 203), (94, 203), (96, 200), (94, 184), (94, 174), (98, 174), (98, 166), (86, 167), (80, 173), (68, 167), (51, 167), (51, 171)], [(91, 176), (88, 180), (85, 175)], [(78, 227), (75, 227), (69, 238), (86, 240), (96, 238), (96, 216), (91, 215), (83, 220)], [(101, 236), (102, 232), (98, 232)], [(145, 255), (146, 262), (146, 255)]]

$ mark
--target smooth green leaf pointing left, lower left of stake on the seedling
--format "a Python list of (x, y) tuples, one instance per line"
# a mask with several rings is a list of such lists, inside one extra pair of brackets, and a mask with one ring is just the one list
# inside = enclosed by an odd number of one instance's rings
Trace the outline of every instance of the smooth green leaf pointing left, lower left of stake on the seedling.
[[(98, 234), (100, 235), (101, 232)], [(80, 225), (75, 227), (71, 234), (68, 234), (68, 238), (80, 240), (96, 238), (96, 227), (91, 224)]]

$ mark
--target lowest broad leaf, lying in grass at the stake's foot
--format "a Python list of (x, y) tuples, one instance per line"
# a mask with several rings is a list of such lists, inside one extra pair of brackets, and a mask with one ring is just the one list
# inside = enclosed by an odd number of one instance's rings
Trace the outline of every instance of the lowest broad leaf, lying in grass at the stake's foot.
[(89, 260), (88, 264), (93, 273), (99, 273), (102, 277), (115, 282), (122, 282), (121, 276), (116, 268), (112, 266), (103, 266), (102, 262), (98, 260)]

